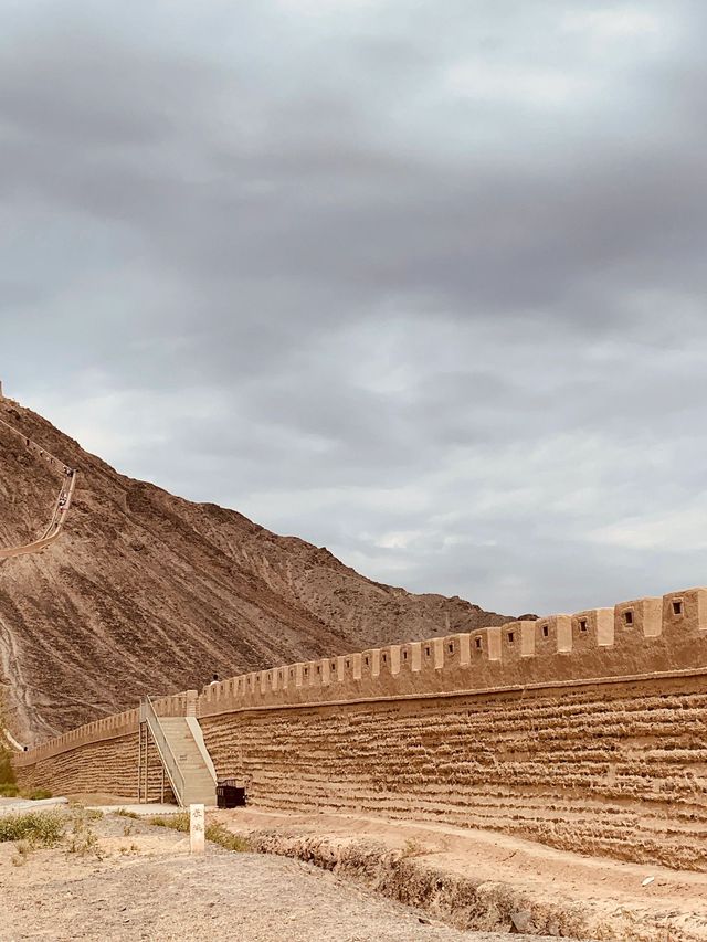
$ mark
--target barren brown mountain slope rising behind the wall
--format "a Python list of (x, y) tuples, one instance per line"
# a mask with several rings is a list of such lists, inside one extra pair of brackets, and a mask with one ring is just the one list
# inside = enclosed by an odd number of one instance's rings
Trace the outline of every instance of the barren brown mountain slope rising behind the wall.
[(77, 469), (57, 541), (0, 561), (6, 724), (31, 742), (276, 664), (503, 624), (462, 599), (413, 595), (233, 510), (131, 480), (0, 399), (0, 548), (42, 536), (61, 481), (25, 447)]

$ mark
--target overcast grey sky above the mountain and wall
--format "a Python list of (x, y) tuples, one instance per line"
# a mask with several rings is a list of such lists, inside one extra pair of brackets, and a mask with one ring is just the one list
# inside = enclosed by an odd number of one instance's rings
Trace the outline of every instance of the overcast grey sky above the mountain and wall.
[(707, 583), (703, 0), (0, 0), (0, 377), (504, 613)]

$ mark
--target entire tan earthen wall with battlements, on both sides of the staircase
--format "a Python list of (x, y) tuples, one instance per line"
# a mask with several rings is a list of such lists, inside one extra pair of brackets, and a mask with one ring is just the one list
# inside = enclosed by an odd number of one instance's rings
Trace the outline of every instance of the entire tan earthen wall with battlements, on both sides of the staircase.
[[(158, 709), (182, 710), (180, 697)], [(697, 869), (706, 708), (706, 589), (249, 674), (197, 701), (219, 776), (257, 805)], [(89, 723), (19, 756), (18, 775), (134, 796), (136, 730), (136, 711)]]

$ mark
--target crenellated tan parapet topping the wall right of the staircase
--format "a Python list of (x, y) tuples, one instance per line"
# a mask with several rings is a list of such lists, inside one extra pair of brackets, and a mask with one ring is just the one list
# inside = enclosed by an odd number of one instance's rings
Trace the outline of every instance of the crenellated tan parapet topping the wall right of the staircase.
[(372, 648), (204, 687), (199, 716), (504, 687), (707, 671), (707, 589)]

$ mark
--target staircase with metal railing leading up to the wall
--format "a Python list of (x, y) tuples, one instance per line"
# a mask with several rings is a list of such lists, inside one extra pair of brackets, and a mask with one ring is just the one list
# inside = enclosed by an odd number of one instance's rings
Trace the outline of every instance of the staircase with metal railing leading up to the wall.
[(138, 748), (138, 802), (148, 801), (149, 739), (161, 761), (161, 798), (165, 776), (181, 807), (217, 804), (217, 776), (196, 717), (158, 717), (149, 697), (140, 703)]

